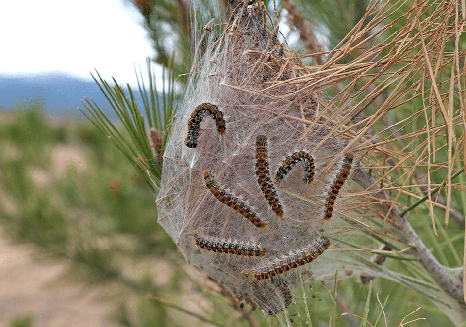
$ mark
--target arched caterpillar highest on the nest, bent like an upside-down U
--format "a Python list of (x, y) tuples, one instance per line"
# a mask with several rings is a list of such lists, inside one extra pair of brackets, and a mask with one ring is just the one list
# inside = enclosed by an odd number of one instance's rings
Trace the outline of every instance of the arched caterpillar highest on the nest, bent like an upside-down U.
[(195, 148), (198, 146), (200, 122), (202, 121), (202, 118), (207, 115), (210, 115), (212, 119), (215, 120), (218, 134), (225, 134), (225, 120), (223, 119), (223, 113), (218, 110), (216, 105), (213, 105), (210, 102), (202, 103), (193, 110), (191, 117), (188, 120), (188, 133), (184, 140), (184, 144), (186, 144), (188, 148)]

